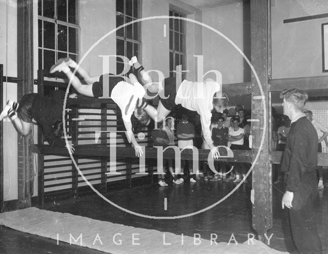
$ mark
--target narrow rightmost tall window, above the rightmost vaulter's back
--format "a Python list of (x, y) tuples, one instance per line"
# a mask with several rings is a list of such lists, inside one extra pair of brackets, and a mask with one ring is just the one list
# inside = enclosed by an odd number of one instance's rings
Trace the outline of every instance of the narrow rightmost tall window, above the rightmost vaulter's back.
[[(169, 15), (186, 17), (174, 10), (170, 10)], [(179, 65), (186, 70), (186, 21), (170, 18), (170, 77), (176, 76), (176, 66)], [(182, 80), (185, 78), (186, 73), (182, 73)]]

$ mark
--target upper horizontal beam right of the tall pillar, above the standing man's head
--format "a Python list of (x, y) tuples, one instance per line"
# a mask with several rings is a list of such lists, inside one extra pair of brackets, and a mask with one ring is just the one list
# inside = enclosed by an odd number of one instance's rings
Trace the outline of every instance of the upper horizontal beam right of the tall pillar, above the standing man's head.
[(280, 92), (286, 88), (297, 87), (301, 90), (328, 89), (328, 75), (314, 77), (281, 78), (269, 81), (270, 92)]

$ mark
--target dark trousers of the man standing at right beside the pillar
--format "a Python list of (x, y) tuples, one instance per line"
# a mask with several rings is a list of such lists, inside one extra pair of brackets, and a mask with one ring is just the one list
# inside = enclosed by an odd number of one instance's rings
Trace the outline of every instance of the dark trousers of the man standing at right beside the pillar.
[(290, 209), (289, 217), (293, 241), (298, 253), (321, 254), (322, 246), (315, 224), (313, 200), (309, 198), (301, 209)]

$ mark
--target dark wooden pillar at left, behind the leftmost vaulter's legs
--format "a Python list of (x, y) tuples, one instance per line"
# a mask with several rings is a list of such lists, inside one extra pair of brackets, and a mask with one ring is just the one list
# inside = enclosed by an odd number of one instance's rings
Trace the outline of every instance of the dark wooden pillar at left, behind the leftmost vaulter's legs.
[[(17, 0), (17, 99), (33, 92), (33, 1)], [(18, 134), (18, 204), (31, 205), (33, 195), (32, 135)]]

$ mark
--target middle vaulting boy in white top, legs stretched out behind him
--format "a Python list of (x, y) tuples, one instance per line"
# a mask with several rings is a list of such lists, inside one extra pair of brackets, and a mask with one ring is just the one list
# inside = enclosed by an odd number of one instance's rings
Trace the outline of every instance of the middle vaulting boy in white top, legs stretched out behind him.
[(122, 112), (122, 119), (126, 128), (126, 136), (128, 141), (134, 146), (136, 156), (141, 156), (143, 152), (141, 146), (135, 140), (134, 133), (132, 131), (131, 116), (133, 114), (142, 125), (148, 125), (150, 123), (149, 115), (143, 110), (148, 104), (146, 101), (142, 101), (142, 97), (144, 97), (146, 93), (144, 87), (141, 86), (137, 79), (134, 79), (133, 81), (131, 80), (131, 84), (124, 78), (113, 74), (90, 76), (86, 69), (79, 66), (77, 68), (77, 72), (87, 82), (87, 84), (82, 84), (70, 69), (76, 67), (77, 64), (72, 59), (61, 58), (51, 67), (50, 73), (65, 73), (71, 80), (72, 86), (75, 88), (77, 93), (95, 98), (103, 96), (103, 83), (107, 81), (109, 86), (109, 95)]

